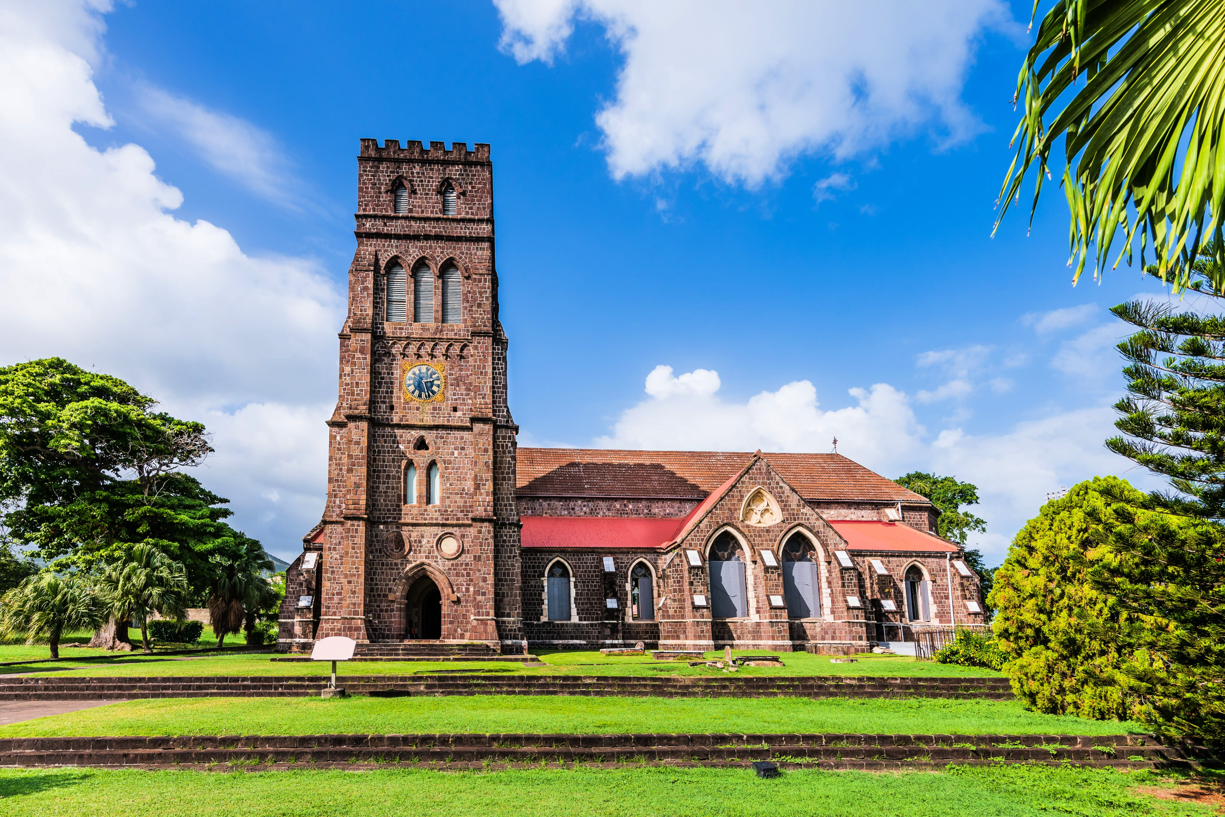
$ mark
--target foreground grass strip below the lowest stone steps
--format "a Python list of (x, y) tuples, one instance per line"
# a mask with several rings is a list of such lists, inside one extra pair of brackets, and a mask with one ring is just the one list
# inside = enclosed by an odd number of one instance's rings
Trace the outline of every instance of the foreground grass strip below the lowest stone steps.
[(277, 815), (283, 817), (480, 813), (497, 817), (1207, 817), (1212, 810), (1163, 802), (1139, 788), (1166, 788), (1149, 772), (956, 767), (944, 773), (795, 770), (763, 780), (750, 769), (626, 768), (505, 772), (293, 770), (0, 772), (11, 817), (43, 815)]

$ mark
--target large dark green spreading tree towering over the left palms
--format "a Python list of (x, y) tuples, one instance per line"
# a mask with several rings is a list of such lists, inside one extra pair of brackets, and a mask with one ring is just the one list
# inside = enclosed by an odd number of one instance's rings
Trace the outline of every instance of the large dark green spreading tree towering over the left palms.
[[(156, 407), (123, 380), (59, 358), (0, 367), (0, 522), (10, 539), (86, 572), (147, 545), (207, 597), (216, 560), (239, 557), (250, 540), (225, 523), (227, 500), (181, 472), (212, 452), (205, 426)], [(127, 621), (113, 620), (97, 643), (118, 646), (126, 633)]]

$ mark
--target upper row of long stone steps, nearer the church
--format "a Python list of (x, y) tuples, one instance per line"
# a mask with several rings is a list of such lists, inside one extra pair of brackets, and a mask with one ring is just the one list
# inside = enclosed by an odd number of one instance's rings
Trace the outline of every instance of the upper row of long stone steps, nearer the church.
[[(467, 696), (578, 695), (800, 698), (980, 698), (1013, 697), (1007, 679), (851, 677), (851, 676), (593, 676), (593, 675), (347, 675), (350, 695)], [(0, 679), (0, 701), (99, 698), (304, 697), (318, 695), (327, 676), (151, 676)]]

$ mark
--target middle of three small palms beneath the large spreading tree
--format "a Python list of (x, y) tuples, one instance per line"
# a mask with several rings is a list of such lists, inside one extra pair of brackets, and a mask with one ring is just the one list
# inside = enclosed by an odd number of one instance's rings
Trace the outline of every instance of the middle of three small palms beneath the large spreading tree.
[(116, 621), (135, 621), (141, 628), (146, 653), (149, 643), (148, 617), (153, 612), (183, 621), (187, 606), (187, 572), (149, 544), (132, 545), (124, 559), (105, 565), (98, 578), (110, 614)]

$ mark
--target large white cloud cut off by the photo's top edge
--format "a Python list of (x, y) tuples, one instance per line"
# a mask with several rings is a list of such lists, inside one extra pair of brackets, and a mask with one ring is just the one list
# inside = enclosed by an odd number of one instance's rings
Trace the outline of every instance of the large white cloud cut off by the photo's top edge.
[(1001, 0), (494, 0), (502, 49), (551, 64), (575, 21), (604, 28), (624, 64), (597, 114), (617, 179), (704, 164), (756, 186), (789, 159), (837, 159), (924, 130), (981, 129), (962, 103), (976, 38), (1019, 31)]

